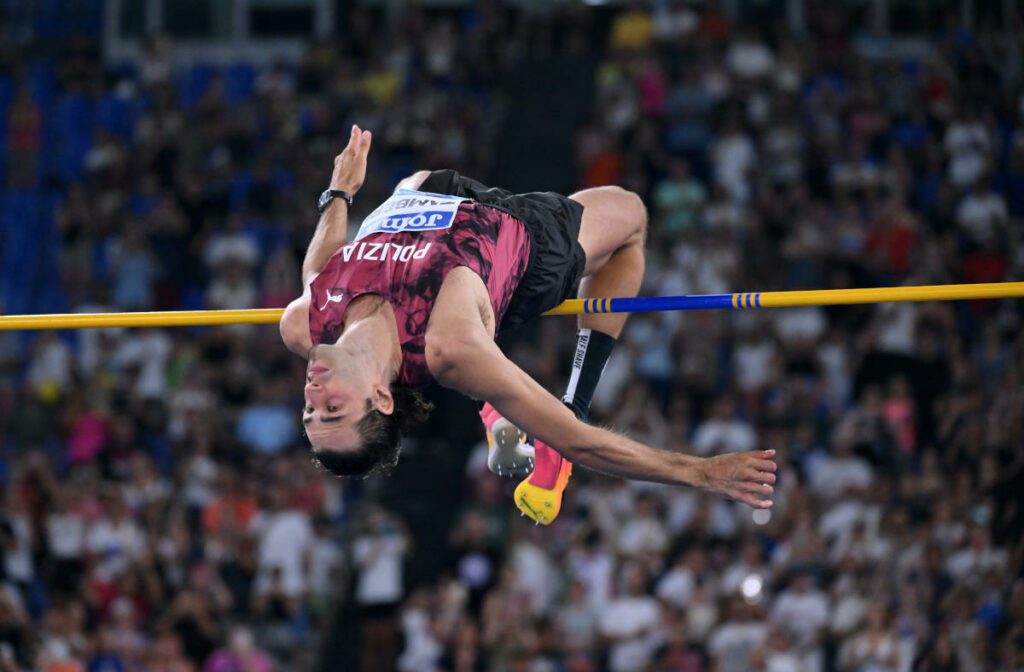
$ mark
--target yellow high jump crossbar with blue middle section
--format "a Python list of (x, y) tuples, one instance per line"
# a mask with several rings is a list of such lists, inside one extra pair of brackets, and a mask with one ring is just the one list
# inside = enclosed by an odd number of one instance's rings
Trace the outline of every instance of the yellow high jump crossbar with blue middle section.
[[(974, 285), (924, 285), (870, 287), (796, 292), (741, 292), (684, 296), (569, 299), (544, 314), (565, 316), (655, 310), (714, 310), (782, 308), (895, 301), (962, 301), (1024, 297), (1024, 282)], [(59, 314), (0, 316), (0, 331), (88, 329), (96, 327), (190, 327), (210, 325), (263, 325), (281, 320), (282, 308), (244, 310), (168, 310), (162, 312), (75, 312)]]

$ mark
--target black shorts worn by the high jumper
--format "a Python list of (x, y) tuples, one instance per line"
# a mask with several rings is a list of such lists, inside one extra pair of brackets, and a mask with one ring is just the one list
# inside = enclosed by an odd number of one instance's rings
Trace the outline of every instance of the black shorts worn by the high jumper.
[(523, 325), (565, 299), (575, 298), (587, 256), (580, 245), (583, 206), (554, 192), (512, 194), (485, 186), (454, 170), (435, 170), (424, 192), (472, 199), (509, 213), (526, 227), (529, 261), (500, 325)]

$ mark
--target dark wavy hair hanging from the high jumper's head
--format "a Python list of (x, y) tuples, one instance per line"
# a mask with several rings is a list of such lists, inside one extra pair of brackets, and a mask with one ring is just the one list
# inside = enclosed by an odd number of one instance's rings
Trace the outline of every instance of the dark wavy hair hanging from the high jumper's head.
[(398, 464), (401, 437), (430, 415), (433, 405), (411, 387), (391, 383), (394, 410), (385, 415), (367, 400), (367, 414), (356, 425), (361, 444), (352, 451), (313, 450), (321, 466), (349, 478), (366, 478), (375, 473), (388, 473)]

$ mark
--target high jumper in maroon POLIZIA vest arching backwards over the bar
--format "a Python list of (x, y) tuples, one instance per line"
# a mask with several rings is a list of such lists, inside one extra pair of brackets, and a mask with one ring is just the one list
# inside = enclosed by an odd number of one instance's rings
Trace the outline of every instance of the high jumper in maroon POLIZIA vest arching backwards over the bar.
[(616, 186), (516, 195), (452, 170), (421, 171), (348, 242), (371, 141), (353, 126), (335, 158), (302, 296), (281, 320), (286, 345), (308, 360), (302, 422), (325, 468), (364, 476), (393, 466), (402, 434), (429, 411), (416, 388), (436, 381), (484, 403), (487, 464), (526, 475), (515, 504), (538, 522), (558, 515), (573, 463), (771, 506), (772, 451), (699, 458), (586, 423), (625, 314), (580, 317), (561, 401), (495, 343), (499, 328), (566, 298), (636, 296), (647, 227), (639, 197)]

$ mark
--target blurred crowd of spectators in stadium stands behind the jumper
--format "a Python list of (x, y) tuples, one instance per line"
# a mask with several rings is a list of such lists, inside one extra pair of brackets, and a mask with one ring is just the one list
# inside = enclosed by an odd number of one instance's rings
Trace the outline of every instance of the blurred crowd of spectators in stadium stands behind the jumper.
[[(354, 10), (347, 39), (263, 68), (178, 68), (162, 38), (131, 67), (4, 50), (5, 224), (37, 199), (18, 240), (48, 245), (58, 291), (7, 279), (3, 301), (282, 306), (348, 124), (375, 133), (356, 218), (419, 167), (485, 177), (503, 81), (544, 53), (596, 62), (580, 185), (644, 197), (645, 293), (1021, 277), (1019, 23), (897, 49), (835, 7), (794, 34), (652, 5)], [(774, 508), (579, 470), (535, 528), (485, 446), (453, 445), (463, 506), (416, 583), (415, 531), (308, 459), (275, 330), (2, 333), (0, 671), (303, 669), (339, 628), (365, 670), (1024, 669), (1022, 317), (635, 316), (595, 420), (775, 449)], [(559, 391), (571, 346), (541, 321), (510, 351)]]

